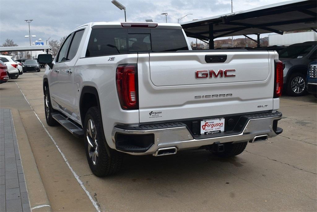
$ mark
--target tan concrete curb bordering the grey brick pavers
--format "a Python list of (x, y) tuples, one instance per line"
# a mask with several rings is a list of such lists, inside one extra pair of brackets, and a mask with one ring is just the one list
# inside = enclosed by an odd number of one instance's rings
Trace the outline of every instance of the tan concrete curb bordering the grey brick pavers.
[(16, 129), (16, 138), (19, 145), (21, 163), (29, 195), (31, 210), (52, 211), (42, 178), (37, 169), (28, 136), (22, 124), (20, 113), (17, 109), (12, 108), (11, 112), (14, 127)]

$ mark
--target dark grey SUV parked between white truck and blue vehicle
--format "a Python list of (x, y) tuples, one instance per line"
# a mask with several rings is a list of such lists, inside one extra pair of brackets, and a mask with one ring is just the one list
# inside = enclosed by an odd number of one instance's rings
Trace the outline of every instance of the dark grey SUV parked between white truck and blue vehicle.
[(316, 60), (316, 41), (296, 43), (279, 52), (284, 66), (284, 88), (290, 96), (306, 94), (307, 66)]

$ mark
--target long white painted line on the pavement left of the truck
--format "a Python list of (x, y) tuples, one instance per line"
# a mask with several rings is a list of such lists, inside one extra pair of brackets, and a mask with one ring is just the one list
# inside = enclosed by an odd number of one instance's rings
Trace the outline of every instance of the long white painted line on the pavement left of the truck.
[(58, 151), (61, 153), (61, 156), (63, 157), (64, 161), (66, 162), (68, 168), (70, 169), (70, 171), (73, 173), (74, 177), (76, 178), (77, 182), (81, 185), (81, 188), (84, 189), (84, 191), (86, 192), (87, 196), (89, 197), (90, 201), (93, 203), (94, 207), (96, 208), (96, 210), (98, 212), (100, 212), (100, 209), (97, 205), (97, 202), (94, 201), (94, 199), (92, 198), (92, 196), (89, 194), (89, 191), (87, 191), (86, 187), (84, 186), (83, 182), (79, 179), (79, 176), (74, 172), (73, 168), (69, 165), (65, 155), (62, 153), (61, 149), (58, 147), (57, 143), (55, 142), (54, 138), (51, 136), (51, 134), (49, 134), (49, 131), (46, 129), (46, 127), (44, 126), (44, 124), (42, 123), (42, 121), (40, 120), (40, 118), (37, 116), (35, 110), (33, 109), (32, 105), (29, 103), (29, 101), (26, 99), (24, 93), (22, 92), (21, 88), (19, 87), (19, 85), (16, 83), (16, 86), (18, 86), (18, 88), (20, 89), (22, 95), (24, 96), (24, 99), (27, 101), (27, 103), (30, 105), (31, 109), (33, 110), (34, 114), (36, 115), (37, 119), (40, 121), (40, 123), (42, 124), (45, 132), (47, 133), (47, 135), (51, 138), (51, 140), (53, 141), (53, 143), (55, 144), (56, 148), (58, 149)]

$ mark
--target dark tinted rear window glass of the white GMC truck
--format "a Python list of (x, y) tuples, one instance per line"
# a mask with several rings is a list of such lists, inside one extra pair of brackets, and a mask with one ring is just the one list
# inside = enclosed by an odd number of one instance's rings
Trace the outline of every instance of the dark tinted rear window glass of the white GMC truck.
[(182, 30), (92, 29), (86, 57), (177, 50), (188, 50)]

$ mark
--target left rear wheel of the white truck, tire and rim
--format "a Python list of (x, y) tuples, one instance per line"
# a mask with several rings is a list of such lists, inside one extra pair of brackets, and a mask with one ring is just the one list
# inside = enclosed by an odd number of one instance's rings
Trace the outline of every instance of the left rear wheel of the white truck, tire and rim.
[[(123, 154), (107, 147), (97, 107), (88, 109), (85, 116), (85, 149), (91, 171), (99, 177), (112, 175), (122, 166)], [(109, 150), (110, 155), (107, 152)]]

